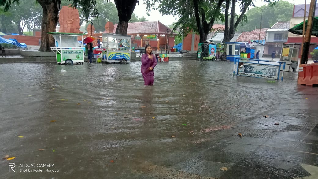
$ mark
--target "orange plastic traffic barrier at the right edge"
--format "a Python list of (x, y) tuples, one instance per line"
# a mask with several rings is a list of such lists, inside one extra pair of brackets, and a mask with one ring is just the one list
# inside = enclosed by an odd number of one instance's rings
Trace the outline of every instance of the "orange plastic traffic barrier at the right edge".
[(299, 65), (297, 84), (318, 85), (318, 63)]

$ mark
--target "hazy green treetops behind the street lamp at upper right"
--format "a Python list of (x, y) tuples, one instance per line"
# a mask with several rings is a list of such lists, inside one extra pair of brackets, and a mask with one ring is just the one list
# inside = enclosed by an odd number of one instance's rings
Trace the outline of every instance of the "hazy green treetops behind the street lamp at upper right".
[[(276, 22), (289, 22), (293, 16), (294, 4), (287, 1), (279, 1), (275, 4), (277, 7), (263, 10), (262, 28), (270, 28)], [(268, 8), (268, 5), (260, 6), (261, 9)], [(247, 23), (239, 25), (237, 31), (252, 31), (259, 28), (261, 19), (261, 10), (259, 8), (252, 8), (246, 12)]]

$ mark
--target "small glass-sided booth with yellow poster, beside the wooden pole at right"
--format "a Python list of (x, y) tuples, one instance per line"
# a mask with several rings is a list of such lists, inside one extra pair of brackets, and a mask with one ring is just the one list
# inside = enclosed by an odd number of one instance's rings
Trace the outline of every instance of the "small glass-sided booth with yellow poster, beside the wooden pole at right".
[[(286, 62), (285, 71), (295, 71), (298, 64), (298, 50), (294, 50), (295, 44), (283, 44), (280, 61)], [(292, 69), (294, 68), (294, 70)]]

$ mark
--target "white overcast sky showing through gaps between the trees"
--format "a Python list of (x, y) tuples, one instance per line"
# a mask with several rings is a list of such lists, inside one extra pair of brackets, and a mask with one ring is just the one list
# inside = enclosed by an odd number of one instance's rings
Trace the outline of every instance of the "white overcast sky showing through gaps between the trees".
[[(285, 0), (285, 1), (288, 1), (289, 3), (293, 3), (293, 4), (305, 4), (305, 0)], [(112, 0), (112, 2), (114, 3), (114, 0)], [(307, 3), (309, 4), (310, 1), (307, 0)], [(266, 3), (264, 3), (263, 0), (256, 0), (255, 4), (257, 4), (257, 6), (261, 6), (261, 5), (264, 5)], [(158, 11), (154, 11), (154, 10), (152, 10), (149, 13), (150, 16), (147, 16), (147, 14), (146, 14), (146, 5), (143, 4), (143, 0), (139, 0), (139, 5), (138, 4), (136, 5), (134, 12), (135, 12), (135, 14), (137, 14), (137, 16), (139, 18), (144, 16), (149, 21), (157, 21), (157, 20), (159, 20), (164, 25), (171, 25), (173, 22), (176, 22), (176, 20), (175, 20), (176, 17), (173, 17), (172, 15), (164, 15), (163, 16)], [(236, 12), (239, 13), (239, 7), (236, 8)]]

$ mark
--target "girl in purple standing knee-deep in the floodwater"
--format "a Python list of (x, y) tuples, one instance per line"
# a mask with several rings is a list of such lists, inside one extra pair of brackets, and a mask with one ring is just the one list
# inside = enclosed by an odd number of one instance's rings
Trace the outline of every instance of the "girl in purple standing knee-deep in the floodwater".
[(152, 54), (152, 48), (149, 44), (145, 47), (145, 53), (141, 57), (141, 63), (141, 74), (145, 85), (153, 85), (155, 81), (154, 68), (157, 65), (157, 60), (155, 55)]

